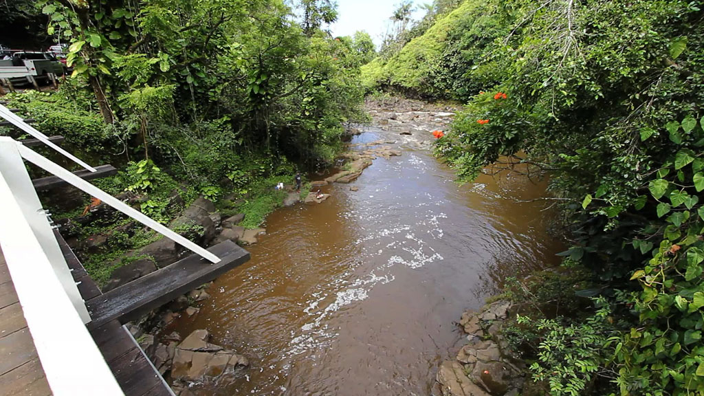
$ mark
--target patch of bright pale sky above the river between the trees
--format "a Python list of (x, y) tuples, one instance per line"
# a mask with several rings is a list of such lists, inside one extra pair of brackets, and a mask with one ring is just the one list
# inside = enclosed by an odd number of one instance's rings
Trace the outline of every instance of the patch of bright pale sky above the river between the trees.
[[(401, 0), (337, 0), (337, 22), (329, 28), (334, 36), (351, 36), (357, 30), (365, 30), (378, 48), (386, 27), (391, 24), (389, 17), (400, 3)], [(413, 0), (416, 10), (423, 3), (432, 0)], [(415, 11), (413, 19), (419, 20), (424, 13)]]

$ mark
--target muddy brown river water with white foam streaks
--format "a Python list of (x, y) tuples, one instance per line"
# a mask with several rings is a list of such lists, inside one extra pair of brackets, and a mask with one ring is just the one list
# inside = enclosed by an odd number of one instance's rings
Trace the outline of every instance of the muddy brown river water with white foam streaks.
[(170, 327), (184, 336), (206, 328), (249, 357), (249, 368), (194, 394), (430, 395), (440, 361), (461, 345), (460, 314), (506, 277), (556, 264), (550, 202), (525, 202), (545, 182), (458, 185), (420, 132), (381, 128), (365, 128), (353, 148), (395, 140), (401, 156), (376, 159), (351, 184), (358, 191), (329, 185), (322, 204), (270, 215), (251, 260)]

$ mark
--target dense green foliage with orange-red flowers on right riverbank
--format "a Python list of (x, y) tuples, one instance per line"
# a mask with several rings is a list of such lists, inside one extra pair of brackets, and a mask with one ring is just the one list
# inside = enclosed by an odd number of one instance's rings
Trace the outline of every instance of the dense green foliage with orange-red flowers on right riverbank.
[[(466, 0), (367, 87), (467, 101), (437, 153), (548, 171), (601, 295), (591, 315), (522, 319), (554, 395), (704, 392), (704, 7), (682, 0)], [(484, 93), (486, 92), (486, 93)]]

